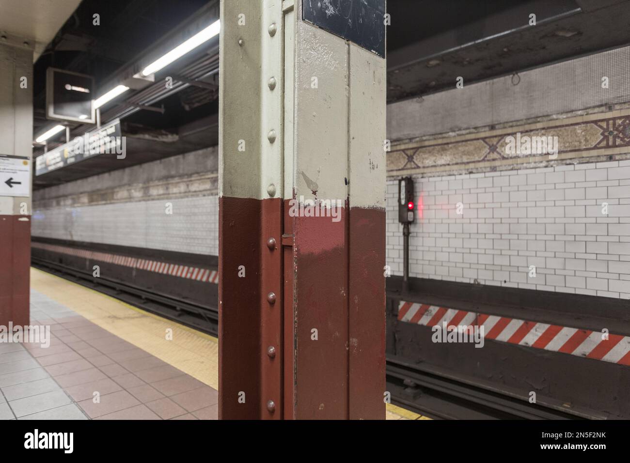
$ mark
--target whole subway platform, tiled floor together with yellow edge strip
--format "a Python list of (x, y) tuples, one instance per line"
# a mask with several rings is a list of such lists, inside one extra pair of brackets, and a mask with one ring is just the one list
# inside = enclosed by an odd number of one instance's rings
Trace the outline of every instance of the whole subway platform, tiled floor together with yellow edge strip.
[(217, 420), (216, 338), (31, 268), (35, 325), (47, 345), (0, 343), (0, 420)]

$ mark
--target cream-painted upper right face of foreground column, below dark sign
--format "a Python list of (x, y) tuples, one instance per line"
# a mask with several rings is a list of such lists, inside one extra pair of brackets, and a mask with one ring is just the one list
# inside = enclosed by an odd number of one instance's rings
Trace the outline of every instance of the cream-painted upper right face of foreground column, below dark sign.
[(295, 8), (295, 197), (384, 208), (386, 61)]

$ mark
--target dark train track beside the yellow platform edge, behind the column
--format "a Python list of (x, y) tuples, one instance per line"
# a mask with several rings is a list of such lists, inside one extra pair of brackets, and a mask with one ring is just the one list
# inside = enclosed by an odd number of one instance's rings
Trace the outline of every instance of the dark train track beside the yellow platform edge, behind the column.
[[(203, 333), (218, 335), (219, 314), (215, 307), (149, 291), (66, 265), (31, 258), (33, 266), (72, 282), (97, 290), (147, 312), (177, 321)], [(430, 418), (445, 420), (575, 420), (589, 418), (559, 409), (530, 404), (484, 387), (467, 384), (457, 377), (438, 374), (395, 358), (387, 358), (387, 391), (392, 403)]]

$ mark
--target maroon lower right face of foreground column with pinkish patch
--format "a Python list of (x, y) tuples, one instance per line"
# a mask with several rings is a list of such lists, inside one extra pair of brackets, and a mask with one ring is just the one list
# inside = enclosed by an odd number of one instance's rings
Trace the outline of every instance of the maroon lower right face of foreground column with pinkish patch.
[[(285, 387), (298, 419), (385, 416), (385, 211), (347, 207), (295, 217), (285, 302)], [(325, 213), (324, 213), (325, 214)], [(287, 264), (285, 278), (287, 280)], [(289, 331), (293, 323), (294, 331)], [(285, 391), (287, 397), (287, 391)]]

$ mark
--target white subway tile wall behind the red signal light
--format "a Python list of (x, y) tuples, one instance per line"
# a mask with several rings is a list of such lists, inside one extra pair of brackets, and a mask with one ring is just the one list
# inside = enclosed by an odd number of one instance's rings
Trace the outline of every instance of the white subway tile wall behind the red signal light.
[[(630, 161), (413, 179), (411, 277), (630, 299)], [(387, 265), (402, 275), (398, 178)]]

